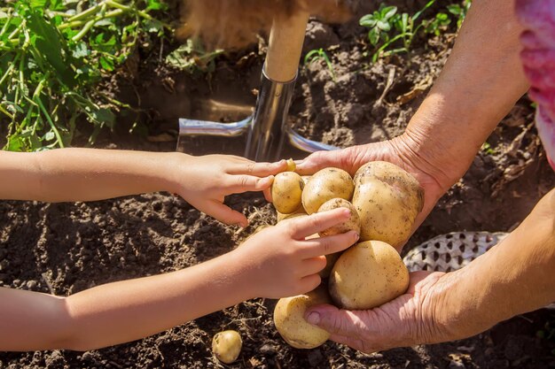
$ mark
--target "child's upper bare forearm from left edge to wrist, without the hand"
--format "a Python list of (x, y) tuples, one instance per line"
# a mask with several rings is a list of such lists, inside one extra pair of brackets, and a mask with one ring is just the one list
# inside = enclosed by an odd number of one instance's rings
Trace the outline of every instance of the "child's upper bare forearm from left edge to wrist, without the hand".
[(174, 153), (62, 149), (0, 152), (0, 198), (46, 202), (92, 201), (171, 190)]

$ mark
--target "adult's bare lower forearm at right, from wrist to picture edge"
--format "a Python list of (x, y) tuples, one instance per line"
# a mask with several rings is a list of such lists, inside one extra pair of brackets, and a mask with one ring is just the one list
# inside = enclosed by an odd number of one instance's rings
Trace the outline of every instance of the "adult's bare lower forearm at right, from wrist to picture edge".
[(443, 276), (442, 321), (455, 335), (451, 338), (477, 334), (555, 301), (553, 281), (555, 190), (503, 242), (460, 271)]

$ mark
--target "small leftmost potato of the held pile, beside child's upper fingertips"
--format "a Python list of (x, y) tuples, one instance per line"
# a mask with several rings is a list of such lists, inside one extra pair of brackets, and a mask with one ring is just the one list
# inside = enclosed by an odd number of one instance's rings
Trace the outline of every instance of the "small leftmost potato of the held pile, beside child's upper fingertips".
[(277, 173), (271, 185), (271, 197), (276, 210), (291, 214), (301, 207), (304, 181), (294, 172)]

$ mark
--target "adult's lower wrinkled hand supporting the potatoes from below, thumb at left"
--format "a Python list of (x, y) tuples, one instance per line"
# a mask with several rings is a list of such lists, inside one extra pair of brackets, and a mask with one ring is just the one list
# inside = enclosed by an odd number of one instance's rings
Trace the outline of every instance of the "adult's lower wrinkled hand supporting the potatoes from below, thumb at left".
[[(439, 295), (437, 281), (444, 273), (410, 273), (410, 286), (402, 296), (367, 311), (340, 310), (317, 305), (305, 313), (311, 324), (324, 328), (330, 339), (365, 353), (447, 341), (447, 329), (440, 327), (435, 312)], [(437, 292), (437, 295), (436, 295)]]

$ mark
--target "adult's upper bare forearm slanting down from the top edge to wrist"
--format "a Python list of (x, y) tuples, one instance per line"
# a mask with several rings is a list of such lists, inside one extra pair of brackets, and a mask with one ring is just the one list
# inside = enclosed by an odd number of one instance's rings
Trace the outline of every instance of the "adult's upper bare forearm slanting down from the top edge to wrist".
[(416, 151), (444, 189), (528, 88), (513, 3), (473, 2), (442, 74), (398, 141)]

